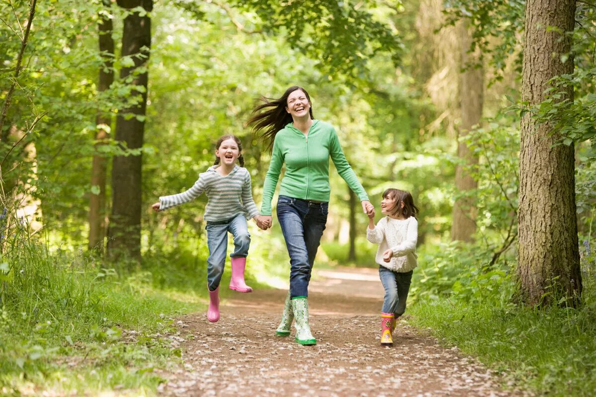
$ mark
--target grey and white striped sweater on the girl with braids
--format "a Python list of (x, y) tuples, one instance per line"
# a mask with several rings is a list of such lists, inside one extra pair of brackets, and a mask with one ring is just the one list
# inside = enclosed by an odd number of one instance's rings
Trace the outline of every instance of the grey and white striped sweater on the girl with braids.
[(247, 219), (259, 215), (253, 200), (249, 171), (236, 165), (228, 175), (221, 176), (216, 168), (218, 166), (210, 166), (206, 172), (200, 173), (193, 187), (187, 191), (160, 197), (159, 209), (188, 203), (205, 192), (208, 198), (204, 215), (206, 221), (225, 221), (238, 214), (244, 214)]

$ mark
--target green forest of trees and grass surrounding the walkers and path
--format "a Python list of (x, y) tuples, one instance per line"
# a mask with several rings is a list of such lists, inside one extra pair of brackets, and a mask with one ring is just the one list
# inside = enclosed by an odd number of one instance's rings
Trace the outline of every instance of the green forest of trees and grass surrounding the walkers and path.
[[(569, 29), (524, 30), (554, 9)], [(154, 393), (154, 371), (180, 359), (173, 319), (205, 308), (206, 198), (159, 216), (150, 204), (190, 188), (222, 134), (242, 139), (259, 204), (269, 151), (244, 123), (260, 95), (300, 85), (377, 209), (388, 187), (421, 208), (407, 321), (507, 387), (589, 395), (595, 13), (560, 0), (2, 2), (2, 393)], [(543, 73), (527, 42), (563, 69)], [(359, 203), (334, 172), (331, 187), (317, 266), (375, 266)], [(283, 287), (281, 230), (251, 228), (253, 284)]]

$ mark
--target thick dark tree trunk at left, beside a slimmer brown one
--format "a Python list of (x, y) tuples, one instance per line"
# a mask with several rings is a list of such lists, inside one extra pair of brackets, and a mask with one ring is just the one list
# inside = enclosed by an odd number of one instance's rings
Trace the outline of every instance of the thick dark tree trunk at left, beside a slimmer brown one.
[[(131, 9), (153, 9), (152, 0), (118, 0), (118, 5)], [(124, 20), (122, 56), (131, 56), (133, 67), (123, 67), (120, 79), (142, 86), (136, 106), (124, 108), (116, 117), (116, 140), (129, 149), (143, 144), (144, 117), (147, 107), (147, 60), (151, 46), (151, 20), (138, 11)], [(139, 68), (140, 70), (135, 70)], [(143, 70), (144, 69), (144, 70)], [(132, 116), (132, 117), (131, 117)], [(111, 259), (141, 260), (141, 156), (116, 156), (112, 163), (112, 211), (110, 217), (108, 255)]]

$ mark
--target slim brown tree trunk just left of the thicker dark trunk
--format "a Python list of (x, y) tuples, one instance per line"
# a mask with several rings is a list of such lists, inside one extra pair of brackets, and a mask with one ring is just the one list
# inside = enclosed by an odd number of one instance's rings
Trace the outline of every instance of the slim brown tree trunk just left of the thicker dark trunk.
[[(110, 9), (110, 0), (103, 0), (106, 10)], [(114, 82), (114, 40), (112, 34), (112, 21), (105, 15), (100, 15), (99, 23), (99, 42), (101, 58), (103, 65), (100, 67), (100, 81), (98, 92), (106, 91)], [(97, 133), (95, 134), (95, 150), (93, 156), (93, 165), (91, 169), (91, 186), (98, 188), (99, 191), (91, 192), (89, 197), (89, 249), (97, 250), (103, 253), (105, 238), (105, 173), (107, 169), (107, 158), (102, 156), (99, 148), (105, 144), (105, 140), (110, 137), (109, 129), (111, 126), (110, 114), (105, 114), (98, 110), (96, 124)]]

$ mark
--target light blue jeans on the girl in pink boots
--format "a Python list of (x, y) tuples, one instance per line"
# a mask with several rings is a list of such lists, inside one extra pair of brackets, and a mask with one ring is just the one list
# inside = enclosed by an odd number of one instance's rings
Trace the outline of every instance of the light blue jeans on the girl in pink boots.
[(219, 287), (224, 274), (226, 252), (228, 250), (228, 232), (234, 236), (234, 252), (231, 258), (246, 258), (249, 255), (250, 234), (246, 224), (246, 216), (238, 214), (226, 221), (207, 221), (207, 286), (210, 291)]

